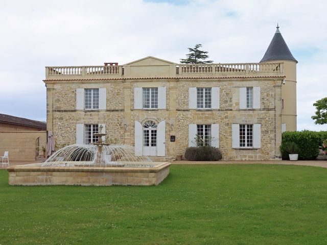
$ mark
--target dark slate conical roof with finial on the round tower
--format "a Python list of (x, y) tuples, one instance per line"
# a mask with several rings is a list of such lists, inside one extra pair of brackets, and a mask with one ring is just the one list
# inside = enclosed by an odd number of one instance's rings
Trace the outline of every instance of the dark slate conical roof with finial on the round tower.
[(277, 24), (277, 30), (274, 37), (272, 38), (269, 47), (264, 55), (264, 58), (260, 62), (270, 61), (270, 60), (293, 60), (297, 63), (297, 60), (293, 57), (291, 51), (289, 50), (284, 38), (279, 32), (279, 27)]

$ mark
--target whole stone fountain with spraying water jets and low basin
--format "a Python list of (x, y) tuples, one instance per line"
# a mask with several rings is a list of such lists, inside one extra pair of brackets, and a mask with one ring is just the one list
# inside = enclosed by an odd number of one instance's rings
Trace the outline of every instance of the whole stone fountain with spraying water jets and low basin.
[[(99, 129), (101, 132), (101, 129)], [(10, 185), (157, 185), (169, 174), (168, 162), (135, 156), (129, 145), (72, 144), (43, 163), (7, 168)]]

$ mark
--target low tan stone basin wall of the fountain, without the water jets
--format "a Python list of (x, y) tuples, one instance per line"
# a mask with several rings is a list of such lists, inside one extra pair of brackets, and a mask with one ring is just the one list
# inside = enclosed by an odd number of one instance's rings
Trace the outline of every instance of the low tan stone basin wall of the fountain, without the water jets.
[(8, 167), (9, 185), (157, 185), (169, 175), (169, 162), (154, 167)]

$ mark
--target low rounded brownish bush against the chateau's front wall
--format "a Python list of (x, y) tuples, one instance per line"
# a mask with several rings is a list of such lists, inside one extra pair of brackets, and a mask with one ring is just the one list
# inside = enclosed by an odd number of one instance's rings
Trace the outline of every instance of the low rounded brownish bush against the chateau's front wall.
[(212, 146), (189, 147), (184, 158), (189, 161), (219, 161), (222, 159), (221, 151)]

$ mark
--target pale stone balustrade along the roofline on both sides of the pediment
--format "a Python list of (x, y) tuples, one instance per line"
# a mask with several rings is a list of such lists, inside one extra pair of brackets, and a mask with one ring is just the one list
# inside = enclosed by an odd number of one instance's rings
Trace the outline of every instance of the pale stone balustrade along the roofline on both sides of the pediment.
[[(166, 77), (192, 77), (195, 75), (224, 77), (224, 76), (253, 76), (254, 74), (267, 75), (284, 75), (283, 63), (233, 63), (233, 64), (179, 64), (170, 66), (170, 74)], [(156, 74), (156, 66), (149, 66), (152, 70), (151, 76)], [(97, 76), (101, 78), (132, 78), (134, 74), (130, 74), (131, 69), (122, 65), (107, 66), (51, 66), (45, 67), (46, 79), (63, 79), (62, 77), (77, 76)], [(125, 74), (124, 74), (125, 71)], [(147, 77), (137, 74), (137, 77)], [(149, 75), (150, 76), (150, 75)]]

